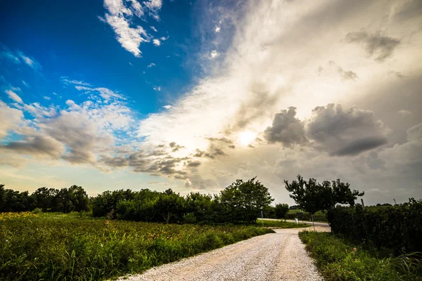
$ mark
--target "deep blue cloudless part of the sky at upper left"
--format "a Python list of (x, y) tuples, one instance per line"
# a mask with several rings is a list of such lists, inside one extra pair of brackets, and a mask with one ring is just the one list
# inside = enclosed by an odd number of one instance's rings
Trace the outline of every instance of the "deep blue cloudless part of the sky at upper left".
[[(23, 79), (31, 86), (30, 91), (22, 93), (25, 100), (43, 104), (43, 97), (49, 96), (55, 103), (63, 103), (67, 96), (75, 96), (75, 90), (64, 88), (60, 79), (70, 77), (118, 89), (133, 101), (140, 115), (148, 115), (191, 84), (187, 46), (194, 52), (200, 44), (192, 33), (195, 19), (191, 4), (167, 1), (160, 11), (160, 21), (148, 16), (147, 22), (138, 19), (154, 37), (168, 39), (160, 46), (142, 44), (142, 57), (136, 58), (113, 40), (113, 30), (100, 20), (105, 12), (103, 1), (85, 3), (42, 1), (31, 6), (27, 1), (9, 1), (2, 7), (3, 47), (22, 51), (41, 65), (37, 75), (22, 65), (13, 67), (13, 63), (2, 61), (5, 67), (1, 74), (10, 84), (22, 89)], [(151, 63), (155, 66), (148, 68)], [(153, 89), (158, 87), (161, 91)], [(53, 92), (65, 98), (59, 99)]]

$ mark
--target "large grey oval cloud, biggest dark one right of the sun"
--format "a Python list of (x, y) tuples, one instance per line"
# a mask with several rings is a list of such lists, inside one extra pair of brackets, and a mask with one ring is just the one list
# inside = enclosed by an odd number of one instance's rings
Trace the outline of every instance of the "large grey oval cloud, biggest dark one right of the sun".
[(315, 107), (313, 113), (307, 124), (308, 136), (316, 142), (317, 149), (331, 155), (358, 155), (387, 143), (388, 129), (369, 110), (343, 110), (341, 105), (331, 103)]

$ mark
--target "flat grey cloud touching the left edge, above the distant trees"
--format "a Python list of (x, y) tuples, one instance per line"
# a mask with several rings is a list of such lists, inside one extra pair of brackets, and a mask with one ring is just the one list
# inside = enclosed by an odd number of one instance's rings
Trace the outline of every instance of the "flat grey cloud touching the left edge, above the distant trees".
[(47, 155), (58, 159), (65, 152), (65, 147), (60, 142), (49, 136), (27, 137), (23, 141), (14, 141), (8, 145), (1, 145), (2, 150), (40, 156)]

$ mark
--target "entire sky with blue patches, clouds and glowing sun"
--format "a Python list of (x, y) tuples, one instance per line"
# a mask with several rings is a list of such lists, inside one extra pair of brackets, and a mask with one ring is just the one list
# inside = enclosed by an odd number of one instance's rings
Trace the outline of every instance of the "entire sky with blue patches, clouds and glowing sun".
[(2, 1), (6, 188), (422, 198), (418, 0)]

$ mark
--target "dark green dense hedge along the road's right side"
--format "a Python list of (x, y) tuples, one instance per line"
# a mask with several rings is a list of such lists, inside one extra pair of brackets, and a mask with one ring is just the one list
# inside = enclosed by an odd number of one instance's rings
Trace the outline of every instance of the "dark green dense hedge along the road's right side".
[(328, 211), (333, 233), (395, 254), (422, 251), (422, 200), (368, 210), (362, 206)]

